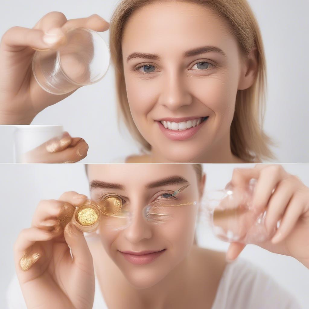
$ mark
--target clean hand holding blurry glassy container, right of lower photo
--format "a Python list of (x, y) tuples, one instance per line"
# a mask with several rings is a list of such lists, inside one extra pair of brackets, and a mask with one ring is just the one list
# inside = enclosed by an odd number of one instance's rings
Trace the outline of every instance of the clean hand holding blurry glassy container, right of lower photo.
[[(230, 184), (242, 187), (252, 178), (257, 180), (253, 208), (262, 211), (267, 207), (266, 230), (272, 231), (282, 217), (273, 238), (255, 244), (270, 252), (292, 256), (309, 269), (309, 188), (281, 165), (265, 164), (234, 169)], [(232, 242), (227, 260), (234, 260), (245, 246)]]

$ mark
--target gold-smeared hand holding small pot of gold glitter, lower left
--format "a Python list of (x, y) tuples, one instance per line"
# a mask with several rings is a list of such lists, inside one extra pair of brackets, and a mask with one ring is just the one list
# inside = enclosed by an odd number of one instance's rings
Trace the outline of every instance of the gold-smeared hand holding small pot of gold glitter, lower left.
[(86, 200), (76, 192), (42, 200), (31, 227), (20, 232), (14, 258), (27, 308), (92, 308), (92, 256), (83, 232), (71, 222), (75, 206)]

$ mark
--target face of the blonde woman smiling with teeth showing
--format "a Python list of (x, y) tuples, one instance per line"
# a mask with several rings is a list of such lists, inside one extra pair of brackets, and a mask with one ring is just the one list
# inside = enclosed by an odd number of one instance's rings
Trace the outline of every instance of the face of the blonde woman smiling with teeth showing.
[[(189, 53), (205, 46), (217, 50)], [(190, 162), (229, 146), (242, 62), (214, 11), (186, 2), (144, 6), (125, 26), (122, 53), (133, 120), (152, 151)], [(132, 53), (156, 56), (127, 61)]]

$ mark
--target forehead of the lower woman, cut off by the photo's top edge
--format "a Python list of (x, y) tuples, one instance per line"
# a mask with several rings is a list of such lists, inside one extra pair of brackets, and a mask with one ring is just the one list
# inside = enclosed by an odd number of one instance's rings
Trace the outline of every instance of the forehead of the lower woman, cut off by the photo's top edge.
[(181, 176), (191, 184), (197, 182), (190, 164), (89, 164), (87, 171), (89, 182), (100, 180), (125, 187), (146, 187), (150, 182), (170, 176)]

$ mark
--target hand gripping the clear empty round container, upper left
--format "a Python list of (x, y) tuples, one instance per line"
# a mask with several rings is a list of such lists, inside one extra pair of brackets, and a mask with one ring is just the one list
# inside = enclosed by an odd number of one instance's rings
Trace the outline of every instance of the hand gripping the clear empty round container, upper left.
[(0, 44), (1, 125), (30, 124), (44, 108), (76, 91), (64, 95), (44, 91), (32, 74), (32, 57), (36, 49), (57, 49), (65, 44), (66, 32), (79, 27), (103, 32), (109, 23), (97, 14), (67, 20), (61, 12), (50, 12), (32, 29), (16, 26), (4, 33)]

